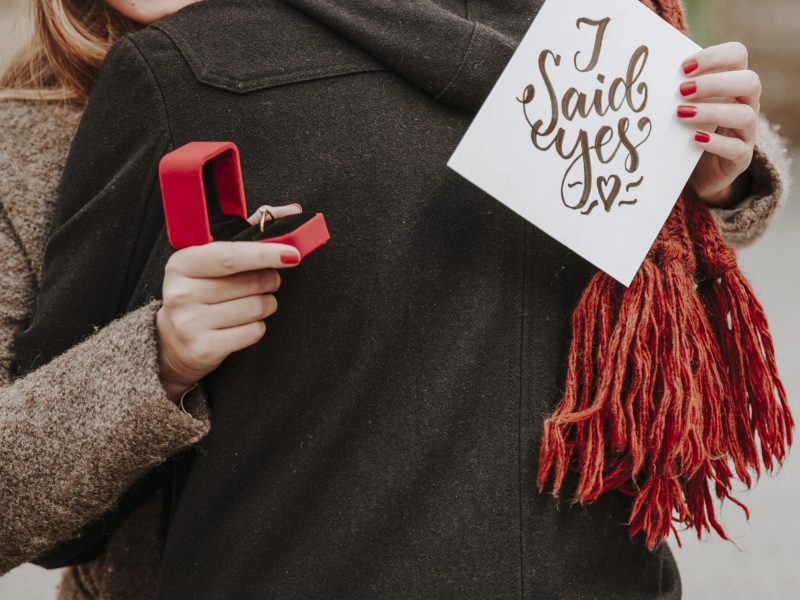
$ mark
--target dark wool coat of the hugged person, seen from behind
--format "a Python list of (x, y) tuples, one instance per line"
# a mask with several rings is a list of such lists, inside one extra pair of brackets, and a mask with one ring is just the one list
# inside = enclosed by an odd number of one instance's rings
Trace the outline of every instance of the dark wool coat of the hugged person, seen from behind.
[[(207, 382), (215, 427), (173, 477), (161, 597), (677, 597), (666, 549), (627, 540), (624, 499), (557, 512), (533, 493), (591, 268), (444, 168), (534, 7), (287, 4), (314, 18), (219, 0), (112, 51), (19, 337), (32, 368), (157, 295), (154, 165), (185, 141), (239, 144), (251, 208), (329, 217), (267, 338)], [(775, 197), (723, 218), (754, 232)], [(99, 559), (121, 572), (128, 523)]]

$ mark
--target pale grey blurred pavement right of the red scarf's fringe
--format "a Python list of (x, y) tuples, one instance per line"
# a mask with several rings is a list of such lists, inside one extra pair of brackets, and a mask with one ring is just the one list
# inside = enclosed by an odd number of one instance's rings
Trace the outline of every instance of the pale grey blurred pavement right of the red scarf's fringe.
[[(800, 151), (800, 149), (798, 149)], [(795, 163), (800, 184), (800, 165)], [(800, 189), (766, 235), (739, 252), (739, 263), (769, 318), (778, 365), (800, 423)], [(797, 431), (795, 432), (797, 435)], [(751, 511), (726, 505), (722, 515), (734, 543), (713, 538), (700, 542), (689, 532), (675, 551), (686, 600), (792, 600), (800, 598), (800, 455), (797, 443), (782, 470), (762, 477), (737, 497)]]

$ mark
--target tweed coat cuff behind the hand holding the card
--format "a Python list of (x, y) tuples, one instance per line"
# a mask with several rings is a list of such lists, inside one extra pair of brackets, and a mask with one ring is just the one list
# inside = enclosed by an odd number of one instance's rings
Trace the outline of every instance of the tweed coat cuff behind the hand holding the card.
[(711, 209), (723, 237), (734, 246), (747, 246), (764, 234), (791, 186), (786, 143), (763, 116), (759, 117), (750, 174), (753, 187), (747, 197), (733, 208)]

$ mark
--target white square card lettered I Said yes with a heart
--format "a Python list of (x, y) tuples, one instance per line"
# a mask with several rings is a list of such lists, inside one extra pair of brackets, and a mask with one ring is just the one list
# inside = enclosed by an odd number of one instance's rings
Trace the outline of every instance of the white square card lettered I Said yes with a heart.
[(703, 153), (676, 115), (698, 50), (638, 0), (548, 0), (447, 164), (630, 285)]

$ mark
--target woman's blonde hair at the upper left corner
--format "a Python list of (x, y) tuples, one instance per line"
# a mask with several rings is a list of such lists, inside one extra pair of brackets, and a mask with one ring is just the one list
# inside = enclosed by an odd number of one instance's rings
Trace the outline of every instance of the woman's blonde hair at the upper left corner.
[(32, 25), (0, 75), (0, 99), (85, 104), (108, 49), (138, 27), (102, 0), (32, 0)]

